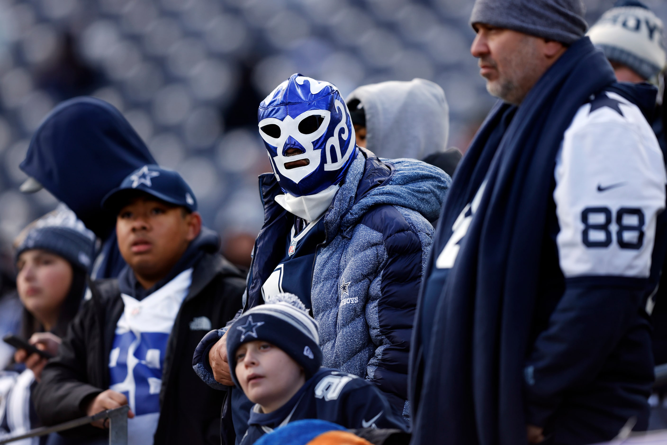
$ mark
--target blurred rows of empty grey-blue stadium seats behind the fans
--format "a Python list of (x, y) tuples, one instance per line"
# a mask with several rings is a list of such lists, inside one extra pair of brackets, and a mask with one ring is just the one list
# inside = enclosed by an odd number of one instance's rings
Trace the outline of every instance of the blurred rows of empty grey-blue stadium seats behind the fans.
[[(0, 246), (56, 205), (22, 195), (18, 165), (59, 101), (118, 107), (155, 158), (194, 189), (225, 238), (261, 227), (269, 170), (259, 101), (291, 73), (358, 85), (423, 77), (450, 103), (465, 149), (492, 104), (469, 48), (472, 0), (0, 0)], [(592, 23), (614, 3), (586, 0)], [(667, 19), (667, 2), (646, 0)], [(8, 257), (5, 256), (5, 259)], [(5, 263), (6, 265), (6, 263)]]

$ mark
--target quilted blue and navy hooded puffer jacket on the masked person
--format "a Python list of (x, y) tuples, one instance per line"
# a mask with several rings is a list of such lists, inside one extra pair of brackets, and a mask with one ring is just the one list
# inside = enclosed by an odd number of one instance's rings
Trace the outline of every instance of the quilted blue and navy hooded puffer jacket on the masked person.
[[(313, 265), (311, 304), (327, 368), (367, 378), (408, 414), (408, 355), (417, 295), (451, 179), (415, 159), (378, 159), (360, 149), (324, 216), (326, 241)], [(255, 242), (244, 310), (263, 304), (261, 286), (285, 252), (287, 211), (272, 173), (259, 177), (264, 226)], [(347, 292), (345, 292), (347, 291)], [(222, 335), (202, 340), (207, 351)], [(208, 339), (208, 340), (207, 340)], [(207, 362), (195, 371), (218, 387)]]

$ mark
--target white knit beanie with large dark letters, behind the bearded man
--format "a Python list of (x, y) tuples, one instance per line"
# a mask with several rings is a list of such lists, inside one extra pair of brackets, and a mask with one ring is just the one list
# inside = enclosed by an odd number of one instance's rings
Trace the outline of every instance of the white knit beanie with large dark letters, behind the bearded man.
[(607, 59), (622, 63), (644, 79), (665, 67), (664, 25), (644, 3), (622, 0), (604, 13), (588, 31)]

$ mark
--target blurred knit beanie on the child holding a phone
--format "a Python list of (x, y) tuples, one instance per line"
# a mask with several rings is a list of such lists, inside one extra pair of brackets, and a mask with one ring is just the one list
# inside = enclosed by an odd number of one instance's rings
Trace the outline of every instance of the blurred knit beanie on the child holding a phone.
[(25, 228), (17, 240), (15, 261), (27, 250), (46, 250), (73, 268), (89, 272), (95, 254), (95, 235), (64, 204)]

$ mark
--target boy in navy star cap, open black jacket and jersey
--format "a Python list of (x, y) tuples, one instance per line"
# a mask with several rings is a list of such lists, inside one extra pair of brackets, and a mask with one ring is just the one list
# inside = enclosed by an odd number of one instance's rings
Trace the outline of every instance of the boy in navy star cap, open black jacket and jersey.
[(91, 300), (43, 372), (37, 412), (57, 424), (129, 404), (129, 444), (217, 444), (221, 393), (183, 358), (241, 308), (245, 280), (217, 254), (219, 238), (201, 226), (177, 172), (144, 165), (102, 205), (117, 215), (127, 267), (91, 285)]

